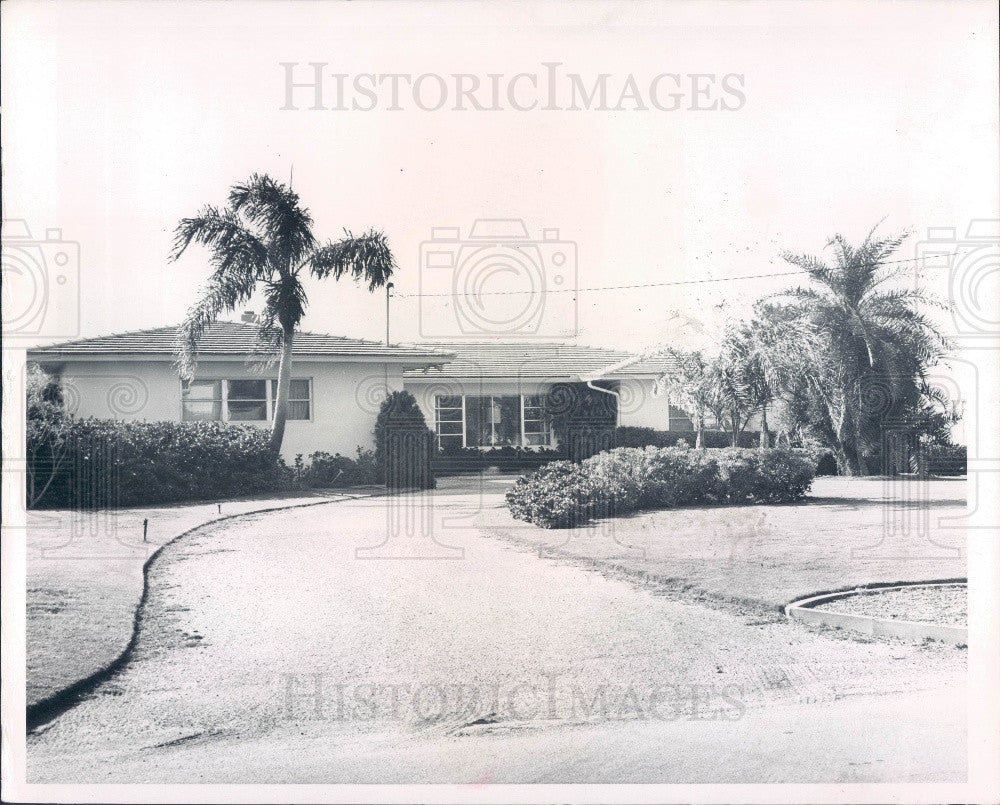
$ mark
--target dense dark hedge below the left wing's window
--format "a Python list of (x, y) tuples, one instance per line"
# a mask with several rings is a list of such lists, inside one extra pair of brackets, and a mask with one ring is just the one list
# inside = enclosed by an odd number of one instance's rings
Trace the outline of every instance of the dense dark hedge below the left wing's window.
[(34, 504), (115, 508), (284, 492), (292, 473), (269, 438), (253, 425), (68, 417), (58, 471)]

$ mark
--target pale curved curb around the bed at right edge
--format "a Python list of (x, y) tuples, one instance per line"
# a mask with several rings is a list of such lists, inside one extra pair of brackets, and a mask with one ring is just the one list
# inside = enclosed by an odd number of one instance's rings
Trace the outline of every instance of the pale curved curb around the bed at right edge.
[(920, 621), (902, 621), (895, 618), (876, 618), (871, 615), (851, 615), (846, 612), (830, 612), (816, 609), (815, 607), (829, 601), (836, 601), (841, 598), (849, 598), (861, 593), (872, 591), (890, 592), (893, 590), (906, 590), (913, 587), (965, 587), (967, 582), (961, 579), (948, 579), (944, 581), (923, 581), (912, 584), (893, 585), (869, 585), (865, 587), (854, 587), (849, 590), (839, 590), (837, 592), (812, 595), (808, 598), (800, 598), (790, 604), (785, 605), (785, 615), (789, 618), (802, 621), (804, 623), (820, 624), (835, 628), (849, 629), (862, 634), (869, 634), (875, 637), (889, 636), (900, 637), (904, 640), (939, 640), (943, 643), (955, 643), (968, 645), (969, 630), (961, 626), (941, 626), (936, 623), (924, 623)]

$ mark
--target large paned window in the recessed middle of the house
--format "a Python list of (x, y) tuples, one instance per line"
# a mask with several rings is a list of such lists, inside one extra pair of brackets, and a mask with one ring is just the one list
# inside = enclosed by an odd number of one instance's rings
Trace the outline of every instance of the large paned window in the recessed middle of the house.
[(550, 443), (544, 397), (539, 395), (438, 396), (434, 424), (442, 450)]

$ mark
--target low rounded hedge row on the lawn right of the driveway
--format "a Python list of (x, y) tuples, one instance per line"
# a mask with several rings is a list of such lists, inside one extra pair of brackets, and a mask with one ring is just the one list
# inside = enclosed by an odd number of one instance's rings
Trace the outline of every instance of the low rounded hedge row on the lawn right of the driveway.
[(787, 503), (809, 490), (816, 456), (804, 450), (619, 447), (573, 464), (553, 461), (507, 492), (518, 520), (573, 528), (595, 517), (707, 503)]

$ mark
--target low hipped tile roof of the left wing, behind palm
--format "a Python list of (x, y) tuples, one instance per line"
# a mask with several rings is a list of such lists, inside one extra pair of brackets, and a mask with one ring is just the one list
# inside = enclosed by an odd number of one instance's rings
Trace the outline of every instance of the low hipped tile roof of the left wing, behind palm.
[[(29, 350), (33, 359), (44, 357), (70, 357), (74, 355), (171, 355), (177, 341), (178, 327), (158, 327), (131, 333), (83, 338), (64, 341)], [(202, 336), (200, 355), (250, 355), (257, 338), (257, 327), (242, 322), (218, 322)], [(397, 358), (451, 358), (447, 352), (429, 347), (394, 345), (386, 347), (378, 341), (345, 338), (324, 333), (298, 332), (295, 334), (295, 357), (350, 357), (369, 356)]]

